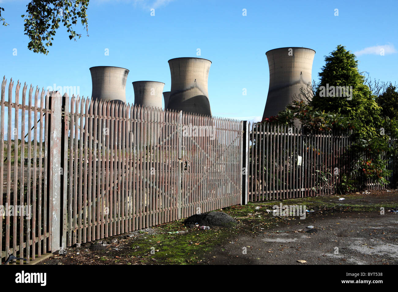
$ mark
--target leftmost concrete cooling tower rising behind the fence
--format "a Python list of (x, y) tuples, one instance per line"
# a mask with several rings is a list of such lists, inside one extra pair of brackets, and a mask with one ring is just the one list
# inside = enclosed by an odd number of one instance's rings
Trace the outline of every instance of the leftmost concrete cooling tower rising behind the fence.
[(94, 99), (126, 102), (126, 81), (129, 70), (120, 67), (96, 66), (91, 67), (90, 72)]

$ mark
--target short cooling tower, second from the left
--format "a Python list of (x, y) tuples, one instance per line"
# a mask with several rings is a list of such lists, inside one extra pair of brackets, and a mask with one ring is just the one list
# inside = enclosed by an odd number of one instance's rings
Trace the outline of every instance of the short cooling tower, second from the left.
[(164, 83), (156, 81), (135, 81), (134, 105), (162, 108)]

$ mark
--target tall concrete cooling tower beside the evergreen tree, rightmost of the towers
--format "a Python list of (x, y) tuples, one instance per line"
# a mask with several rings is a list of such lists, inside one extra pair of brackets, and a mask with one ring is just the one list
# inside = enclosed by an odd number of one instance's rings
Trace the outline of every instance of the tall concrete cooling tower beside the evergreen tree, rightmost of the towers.
[[(263, 120), (278, 112), (307, 90), (311, 82), (315, 51), (309, 48), (276, 48), (265, 53), (269, 66), (269, 89)], [(308, 88), (309, 89), (309, 88)]]

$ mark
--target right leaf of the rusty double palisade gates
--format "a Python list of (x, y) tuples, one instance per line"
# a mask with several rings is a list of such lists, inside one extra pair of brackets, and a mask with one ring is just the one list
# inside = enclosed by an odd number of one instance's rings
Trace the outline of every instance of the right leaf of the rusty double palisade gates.
[(242, 203), (243, 123), (181, 113), (181, 215)]

